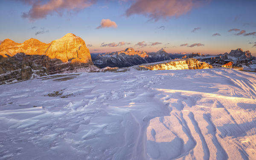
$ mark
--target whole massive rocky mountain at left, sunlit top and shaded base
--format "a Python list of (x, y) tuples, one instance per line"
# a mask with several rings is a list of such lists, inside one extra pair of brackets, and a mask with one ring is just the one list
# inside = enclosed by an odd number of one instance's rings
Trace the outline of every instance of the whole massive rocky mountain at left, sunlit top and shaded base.
[(93, 65), (84, 41), (72, 33), (49, 44), (29, 39), (0, 44), (0, 81), (23, 80)]

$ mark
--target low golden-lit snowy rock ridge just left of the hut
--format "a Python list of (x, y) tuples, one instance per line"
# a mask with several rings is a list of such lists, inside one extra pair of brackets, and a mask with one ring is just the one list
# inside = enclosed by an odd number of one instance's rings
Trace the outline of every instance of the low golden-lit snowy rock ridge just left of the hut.
[(195, 69), (208, 69), (212, 68), (211, 65), (200, 62), (194, 58), (166, 61), (155, 64), (148, 64), (139, 66), (139, 70), (195, 70)]

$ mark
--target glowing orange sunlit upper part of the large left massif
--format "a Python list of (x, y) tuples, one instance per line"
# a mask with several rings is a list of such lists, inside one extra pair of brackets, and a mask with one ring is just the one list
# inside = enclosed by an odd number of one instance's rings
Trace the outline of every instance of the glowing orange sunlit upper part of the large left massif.
[(20, 52), (26, 55), (46, 55), (51, 59), (60, 59), (62, 62), (93, 64), (90, 51), (84, 41), (72, 33), (49, 44), (31, 38), (22, 44), (6, 39), (0, 45), (0, 55), (4, 58)]

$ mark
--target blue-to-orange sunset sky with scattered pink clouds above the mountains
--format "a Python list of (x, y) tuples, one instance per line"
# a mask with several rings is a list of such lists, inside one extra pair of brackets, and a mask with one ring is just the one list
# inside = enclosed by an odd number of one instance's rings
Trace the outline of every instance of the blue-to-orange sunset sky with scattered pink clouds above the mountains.
[(256, 56), (256, 0), (0, 0), (0, 43), (73, 33), (91, 53), (128, 47)]

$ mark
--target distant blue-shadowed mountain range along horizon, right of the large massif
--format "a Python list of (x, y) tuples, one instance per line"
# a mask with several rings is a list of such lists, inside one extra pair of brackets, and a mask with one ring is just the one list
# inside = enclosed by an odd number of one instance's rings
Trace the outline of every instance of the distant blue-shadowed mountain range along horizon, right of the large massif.
[(212, 63), (216, 60), (233, 61), (237, 67), (244, 67), (246, 70), (256, 69), (256, 57), (253, 57), (250, 51), (243, 52), (242, 49), (231, 50), (230, 53), (219, 55), (202, 55), (201, 53), (191, 54), (171, 54), (164, 49), (157, 52), (135, 51), (133, 48), (127, 48), (118, 52), (107, 52), (93, 56), (94, 65), (103, 67), (130, 67), (139, 64), (146, 64), (158, 61), (172, 60), (176, 58), (195, 58), (198, 61)]

